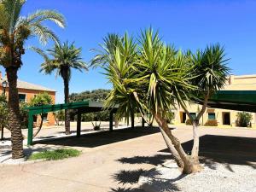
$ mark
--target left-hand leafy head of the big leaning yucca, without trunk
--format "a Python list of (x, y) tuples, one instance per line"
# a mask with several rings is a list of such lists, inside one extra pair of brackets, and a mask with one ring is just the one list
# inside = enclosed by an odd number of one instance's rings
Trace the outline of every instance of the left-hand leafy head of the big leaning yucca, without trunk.
[(98, 55), (93, 58), (90, 65), (92, 67), (102, 66), (109, 81), (115, 84), (116, 89), (110, 92), (109, 98), (119, 96), (119, 99), (118, 101), (108, 99), (106, 106), (119, 104), (119, 113), (116, 118), (119, 119), (125, 115), (125, 118), (129, 119), (134, 115), (137, 105), (133, 91), (127, 90), (134, 84), (131, 81), (134, 75), (131, 67), (137, 57), (137, 44), (128, 33), (125, 33), (124, 37), (108, 34), (103, 41), (104, 44), (100, 44), (102, 49), (94, 49)]

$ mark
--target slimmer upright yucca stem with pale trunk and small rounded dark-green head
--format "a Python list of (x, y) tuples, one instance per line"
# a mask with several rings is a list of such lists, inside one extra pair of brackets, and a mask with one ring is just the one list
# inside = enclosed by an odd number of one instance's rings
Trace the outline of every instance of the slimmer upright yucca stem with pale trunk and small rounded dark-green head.
[(190, 75), (194, 78), (191, 79), (190, 84), (197, 86), (197, 89), (192, 91), (189, 97), (192, 101), (202, 102), (202, 107), (196, 117), (193, 118), (186, 105), (184, 103), (181, 103), (181, 105), (193, 122), (194, 144), (191, 151), (191, 160), (194, 160), (195, 163), (199, 163), (199, 121), (206, 112), (209, 98), (226, 84), (226, 78), (230, 73), (227, 61), (229, 60), (225, 58), (224, 47), (219, 44), (212, 44), (204, 50), (198, 50), (191, 57), (193, 70)]

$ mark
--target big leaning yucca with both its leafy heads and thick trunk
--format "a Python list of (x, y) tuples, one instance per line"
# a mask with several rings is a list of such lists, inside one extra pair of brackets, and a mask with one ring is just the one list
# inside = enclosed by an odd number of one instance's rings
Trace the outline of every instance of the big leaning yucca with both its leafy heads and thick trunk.
[[(119, 104), (119, 116), (129, 116), (135, 110), (139, 110), (143, 116), (152, 114), (163, 136), (168, 139), (166, 143), (177, 165), (183, 167), (184, 172), (189, 172), (189, 155), (169, 129), (166, 113), (175, 106), (176, 101), (184, 103), (179, 99), (180, 95), (189, 99), (187, 94), (195, 89), (189, 84), (190, 57), (163, 44), (158, 33), (152, 29), (142, 32), (138, 44), (127, 34), (118, 42), (113, 46), (103, 44), (102, 51), (92, 60), (96, 65), (102, 64), (113, 84), (106, 108)], [(114, 50), (110, 51), (108, 47)]]

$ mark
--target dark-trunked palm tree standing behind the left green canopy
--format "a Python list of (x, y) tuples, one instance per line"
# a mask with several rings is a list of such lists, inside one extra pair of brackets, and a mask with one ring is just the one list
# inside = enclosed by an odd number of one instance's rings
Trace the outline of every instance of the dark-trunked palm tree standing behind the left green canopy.
[[(86, 64), (81, 58), (81, 48), (76, 48), (74, 44), (55, 44), (53, 49), (48, 49), (47, 54), (38, 49), (38, 53), (44, 56), (40, 72), (50, 74), (55, 71), (56, 76), (61, 76), (64, 82), (65, 103), (69, 103), (69, 81), (71, 78), (71, 69), (78, 69), (82, 72), (87, 70)], [(65, 131), (70, 134), (70, 115), (68, 110), (65, 110)]]

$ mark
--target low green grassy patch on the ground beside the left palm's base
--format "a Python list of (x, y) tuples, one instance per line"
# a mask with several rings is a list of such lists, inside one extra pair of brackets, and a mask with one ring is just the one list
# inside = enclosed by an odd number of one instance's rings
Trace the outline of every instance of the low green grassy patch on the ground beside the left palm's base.
[(73, 148), (61, 148), (55, 150), (44, 150), (32, 154), (28, 160), (63, 160), (70, 157), (77, 157), (81, 152)]

